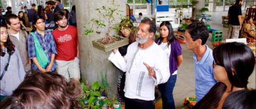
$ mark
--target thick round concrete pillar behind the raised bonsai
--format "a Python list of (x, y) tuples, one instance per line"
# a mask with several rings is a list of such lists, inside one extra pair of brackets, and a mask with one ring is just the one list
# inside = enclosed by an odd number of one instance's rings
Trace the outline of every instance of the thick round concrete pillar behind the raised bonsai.
[[(107, 0), (101, 0), (100, 2), (92, 0), (73, 0), (73, 3), (74, 1), (76, 1), (76, 21), (81, 74), (85, 81), (88, 80), (88, 83), (91, 85), (94, 81), (99, 81), (100, 72), (105, 73), (107, 71), (108, 83), (112, 89), (109, 91), (111, 94), (116, 94), (119, 70), (108, 60), (111, 52), (104, 52), (92, 47), (92, 40), (103, 38), (105, 34), (91, 33), (89, 35), (83, 35), (83, 32), (85, 31), (83, 26), (89, 26), (87, 23), (90, 22), (92, 18), (98, 18), (95, 8), (107, 4)], [(126, 0), (115, 0), (115, 2), (120, 5), (119, 9), (123, 11), (123, 13), (119, 14), (125, 16)], [(114, 23), (117, 24), (120, 21), (120, 19), (116, 19)], [(107, 30), (107, 28), (103, 28), (102, 30)], [(114, 33), (115, 32), (112, 32), (112, 34)]]

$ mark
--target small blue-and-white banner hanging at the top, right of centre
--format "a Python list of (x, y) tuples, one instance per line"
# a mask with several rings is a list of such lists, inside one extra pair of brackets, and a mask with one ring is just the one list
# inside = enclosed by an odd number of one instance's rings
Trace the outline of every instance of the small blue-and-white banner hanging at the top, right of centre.
[(169, 0), (156, 0), (156, 12), (168, 12)]

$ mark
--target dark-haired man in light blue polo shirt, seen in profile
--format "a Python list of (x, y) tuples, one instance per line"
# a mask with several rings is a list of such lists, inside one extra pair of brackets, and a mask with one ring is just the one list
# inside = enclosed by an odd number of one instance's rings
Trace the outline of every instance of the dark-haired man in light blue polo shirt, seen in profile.
[(195, 93), (197, 102), (217, 83), (213, 77), (212, 50), (205, 45), (209, 37), (208, 30), (203, 22), (197, 22), (187, 26), (184, 43), (194, 55)]

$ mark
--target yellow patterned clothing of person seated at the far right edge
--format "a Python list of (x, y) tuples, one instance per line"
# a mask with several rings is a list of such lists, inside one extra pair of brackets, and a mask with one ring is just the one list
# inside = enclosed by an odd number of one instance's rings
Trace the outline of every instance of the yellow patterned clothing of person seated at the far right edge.
[(243, 30), (242, 30), (242, 32), (241, 32), (241, 38), (246, 38), (246, 37), (248, 37), (248, 31), (251, 33), (251, 34), (253, 34), (253, 38), (255, 38), (255, 29), (256, 29), (256, 27), (255, 27), (255, 25), (254, 24), (244, 24), (244, 28), (243, 28)]

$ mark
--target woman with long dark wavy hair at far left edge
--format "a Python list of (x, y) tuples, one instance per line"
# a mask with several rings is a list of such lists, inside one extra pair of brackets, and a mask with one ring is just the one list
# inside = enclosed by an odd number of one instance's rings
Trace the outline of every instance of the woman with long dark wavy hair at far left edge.
[(0, 77), (1, 77), (1, 101), (12, 95), (18, 85), (24, 80), (26, 74), (18, 50), (12, 44), (6, 25), (0, 24), (1, 50), (0, 50)]

